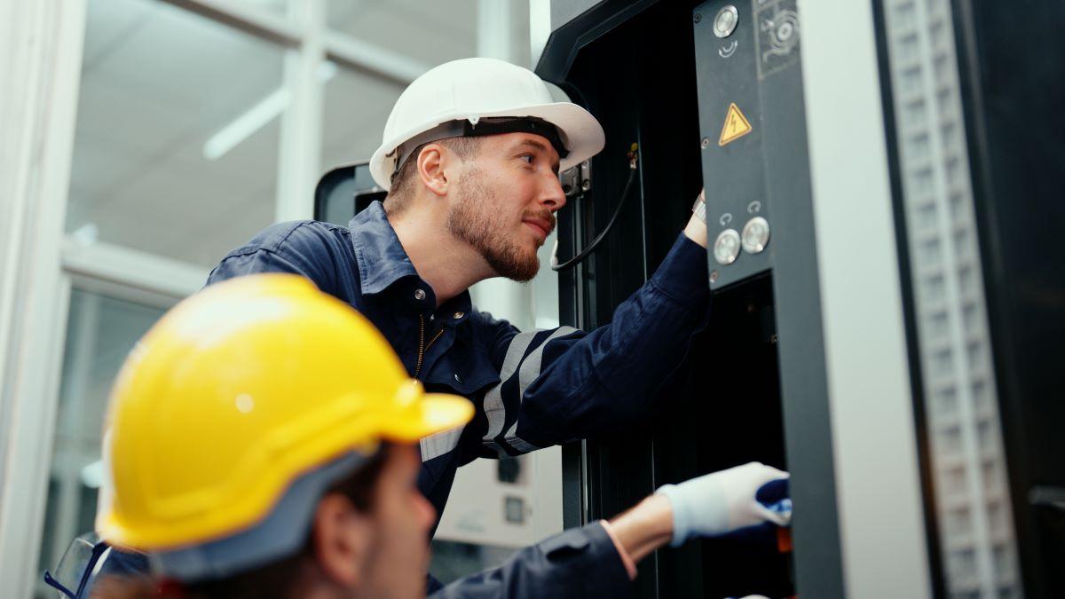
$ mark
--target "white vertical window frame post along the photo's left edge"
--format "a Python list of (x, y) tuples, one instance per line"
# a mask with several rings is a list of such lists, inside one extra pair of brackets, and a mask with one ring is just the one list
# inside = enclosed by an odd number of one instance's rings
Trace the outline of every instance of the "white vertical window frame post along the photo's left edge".
[(12, 597), (30, 595), (44, 517), (69, 297), (60, 240), (85, 13), (84, 0), (0, 5), (0, 22), (11, 28), (0, 36), (3, 80), (22, 92), (5, 97), (11, 106), (0, 113), (13, 159), (0, 177), (7, 203), (0, 218), (0, 580)]

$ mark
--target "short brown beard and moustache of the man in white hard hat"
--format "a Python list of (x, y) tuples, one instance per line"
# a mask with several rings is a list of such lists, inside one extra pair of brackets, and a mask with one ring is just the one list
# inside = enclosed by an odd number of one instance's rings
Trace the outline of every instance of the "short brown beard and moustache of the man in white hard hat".
[[(473, 246), (497, 275), (520, 282), (531, 280), (540, 270), (536, 248), (514, 239), (507, 215), (497, 209), (498, 203), (484, 180), (476, 168), (463, 174), (458, 201), (447, 213), (447, 230)], [(555, 215), (547, 209), (525, 210), (522, 217), (526, 216), (543, 218), (555, 228)]]

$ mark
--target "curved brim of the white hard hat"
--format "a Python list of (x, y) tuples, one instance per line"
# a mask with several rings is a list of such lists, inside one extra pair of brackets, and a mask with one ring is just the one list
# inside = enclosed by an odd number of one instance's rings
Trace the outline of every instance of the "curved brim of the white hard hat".
[(573, 102), (531, 104), (477, 115), (442, 114), (430, 126), (404, 131), (381, 144), (381, 147), (377, 148), (373, 158), (370, 159), (370, 173), (373, 175), (374, 181), (381, 189), (389, 189), (392, 183), (394, 160), (388, 158), (387, 155), (391, 153), (400, 144), (444, 123), (465, 120), (474, 116), (477, 118), (497, 116), (536, 117), (551, 123), (558, 129), (567, 149), (570, 150), (569, 156), (559, 161), (559, 172), (580, 164), (599, 153), (606, 145), (606, 133), (603, 131), (603, 126), (600, 125), (600, 122), (590, 112)]

